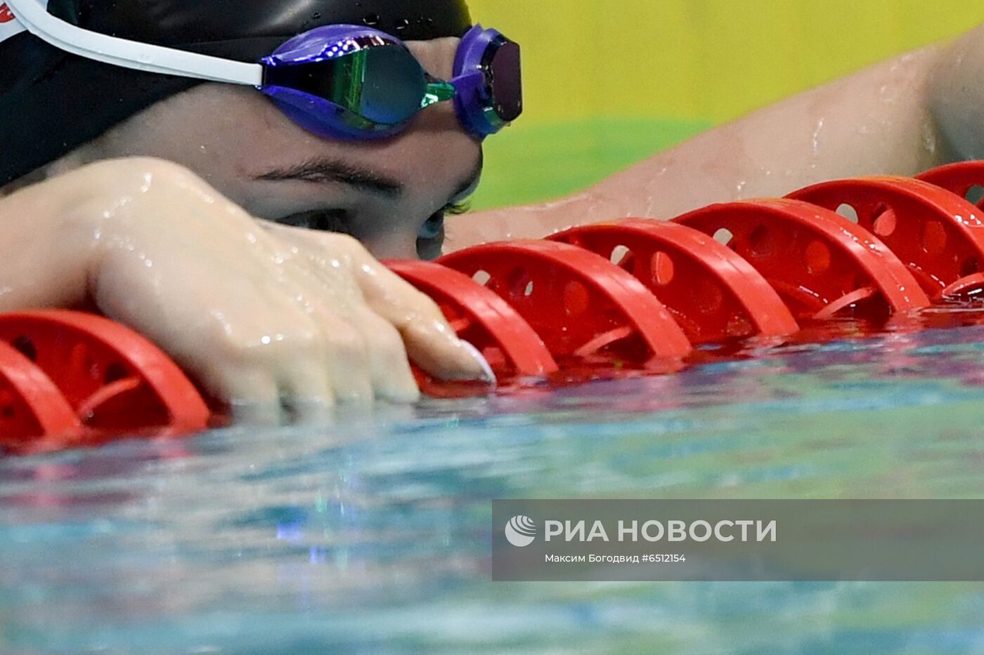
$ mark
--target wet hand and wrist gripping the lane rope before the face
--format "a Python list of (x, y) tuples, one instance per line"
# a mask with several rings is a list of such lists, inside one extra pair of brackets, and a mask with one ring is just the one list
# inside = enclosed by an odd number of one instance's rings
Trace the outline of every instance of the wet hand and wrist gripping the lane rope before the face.
[(317, 422), (415, 400), (407, 363), (482, 370), (437, 306), (354, 239), (254, 219), (188, 170), (102, 161), (0, 200), (0, 312), (90, 301), (237, 422)]

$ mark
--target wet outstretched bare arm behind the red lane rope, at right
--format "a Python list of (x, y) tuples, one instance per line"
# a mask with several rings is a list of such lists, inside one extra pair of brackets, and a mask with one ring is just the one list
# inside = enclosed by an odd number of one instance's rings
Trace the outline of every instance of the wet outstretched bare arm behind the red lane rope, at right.
[(446, 251), (622, 216), (672, 218), (828, 179), (912, 175), (951, 160), (954, 141), (964, 144), (961, 154), (984, 155), (982, 114), (984, 27), (951, 47), (893, 58), (710, 130), (582, 194), (456, 217)]

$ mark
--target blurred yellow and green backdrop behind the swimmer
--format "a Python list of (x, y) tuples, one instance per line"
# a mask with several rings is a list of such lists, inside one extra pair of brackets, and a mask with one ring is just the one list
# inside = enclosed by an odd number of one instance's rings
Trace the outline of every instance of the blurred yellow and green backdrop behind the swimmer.
[(469, 0), (523, 45), (477, 208), (584, 188), (776, 99), (984, 23), (979, 0)]

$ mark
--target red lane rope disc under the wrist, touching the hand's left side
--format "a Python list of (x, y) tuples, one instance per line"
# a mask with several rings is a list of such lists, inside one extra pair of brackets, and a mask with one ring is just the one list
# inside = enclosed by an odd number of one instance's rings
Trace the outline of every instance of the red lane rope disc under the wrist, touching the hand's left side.
[(102, 317), (68, 311), (0, 315), (0, 340), (47, 375), (92, 431), (203, 430), (198, 390), (153, 343)]

